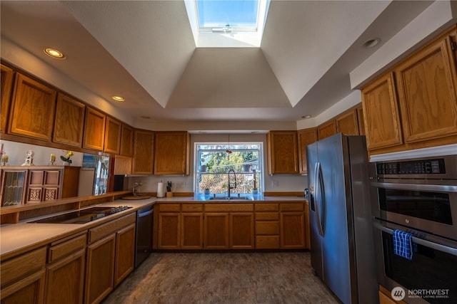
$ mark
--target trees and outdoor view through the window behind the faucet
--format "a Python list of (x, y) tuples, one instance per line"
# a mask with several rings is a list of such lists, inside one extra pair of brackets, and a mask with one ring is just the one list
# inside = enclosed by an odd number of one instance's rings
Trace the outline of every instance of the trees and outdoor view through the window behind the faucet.
[[(197, 144), (196, 145), (196, 192), (211, 194), (227, 192), (229, 170), (236, 175), (236, 187), (231, 193), (261, 192), (261, 144)], [(231, 174), (230, 182), (234, 186)]]

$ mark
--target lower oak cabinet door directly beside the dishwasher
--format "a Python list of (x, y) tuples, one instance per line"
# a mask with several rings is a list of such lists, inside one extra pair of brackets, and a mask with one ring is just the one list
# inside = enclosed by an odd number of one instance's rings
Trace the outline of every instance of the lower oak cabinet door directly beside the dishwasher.
[(116, 263), (114, 265), (114, 286), (121, 283), (134, 270), (135, 224), (126, 226), (116, 233)]

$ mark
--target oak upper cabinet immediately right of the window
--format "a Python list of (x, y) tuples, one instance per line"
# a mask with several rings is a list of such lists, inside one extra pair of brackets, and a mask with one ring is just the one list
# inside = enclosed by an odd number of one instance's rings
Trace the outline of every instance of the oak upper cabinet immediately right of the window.
[(298, 174), (296, 131), (270, 131), (267, 135), (268, 174)]

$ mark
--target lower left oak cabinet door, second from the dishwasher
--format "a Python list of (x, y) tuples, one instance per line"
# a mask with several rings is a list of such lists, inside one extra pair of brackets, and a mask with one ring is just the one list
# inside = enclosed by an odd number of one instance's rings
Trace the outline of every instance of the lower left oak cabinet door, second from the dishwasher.
[(100, 303), (113, 290), (115, 250), (116, 234), (88, 246), (84, 303)]

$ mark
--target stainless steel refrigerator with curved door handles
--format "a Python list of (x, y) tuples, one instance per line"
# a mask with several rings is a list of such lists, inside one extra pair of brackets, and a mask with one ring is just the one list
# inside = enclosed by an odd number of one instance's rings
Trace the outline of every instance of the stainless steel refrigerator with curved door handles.
[(378, 303), (364, 136), (306, 148), (311, 267), (343, 303)]

